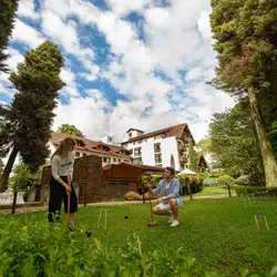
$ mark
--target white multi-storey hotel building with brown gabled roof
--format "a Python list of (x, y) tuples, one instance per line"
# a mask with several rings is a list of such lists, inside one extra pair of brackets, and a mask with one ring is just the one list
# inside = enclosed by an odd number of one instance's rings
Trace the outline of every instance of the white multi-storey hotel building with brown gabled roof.
[[(194, 138), (187, 124), (179, 124), (151, 133), (130, 129), (122, 146), (130, 151), (133, 163), (153, 166), (173, 166), (176, 171), (189, 168), (188, 141)], [(203, 156), (197, 162), (198, 171), (207, 168)]]

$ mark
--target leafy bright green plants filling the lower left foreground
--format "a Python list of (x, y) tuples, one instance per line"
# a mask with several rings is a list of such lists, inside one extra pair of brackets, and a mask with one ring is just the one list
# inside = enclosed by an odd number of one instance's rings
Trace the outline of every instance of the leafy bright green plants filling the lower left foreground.
[[(198, 276), (201, 265), (183, 248), (144, 252), (135, 234), (110, 247), (81, 228), (0, 220), (0, 276)], [(51, 243), (50, 243), (51, 242)]]

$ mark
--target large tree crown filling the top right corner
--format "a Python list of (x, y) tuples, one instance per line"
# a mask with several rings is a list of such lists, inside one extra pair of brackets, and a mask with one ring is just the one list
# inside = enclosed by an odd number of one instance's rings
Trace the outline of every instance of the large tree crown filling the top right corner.
[(277, 58), (276, 2), (212, 0), (212, 7), (218, 82), (240, 95), (244, 88), (269, 88)]

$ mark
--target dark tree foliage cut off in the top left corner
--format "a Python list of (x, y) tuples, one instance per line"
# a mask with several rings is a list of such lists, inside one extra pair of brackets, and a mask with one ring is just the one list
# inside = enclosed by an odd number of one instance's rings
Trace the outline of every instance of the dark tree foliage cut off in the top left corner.
[(8, 40), (11, 35), (14, 13), (18, 10), (18, 0), (1, 0), (0, 1), (0, 72), (8, 72), (6, 61), (10, 57), (4, 53), (8, 49)]

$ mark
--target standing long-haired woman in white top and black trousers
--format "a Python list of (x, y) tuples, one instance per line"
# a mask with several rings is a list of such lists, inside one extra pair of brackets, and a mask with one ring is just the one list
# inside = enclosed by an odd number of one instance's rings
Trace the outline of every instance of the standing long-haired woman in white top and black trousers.
[[(50, 199), (48, 220), (53, 222), (53, 214), (60, 217), (61, 205), (63, 201), (65, 214), (69, 212), (69, 230), (74, 226), (74, 213), (78, 211), (78, 198), (74, 187), (69, 187), (72, 181), (74, 165), (74, 146), (75, 141), (66, 137), (62, 141), (51, 157), (51, 181), (50, 181)], [(71, 194), (70, 211), (68, 211), (68, 195)]]

